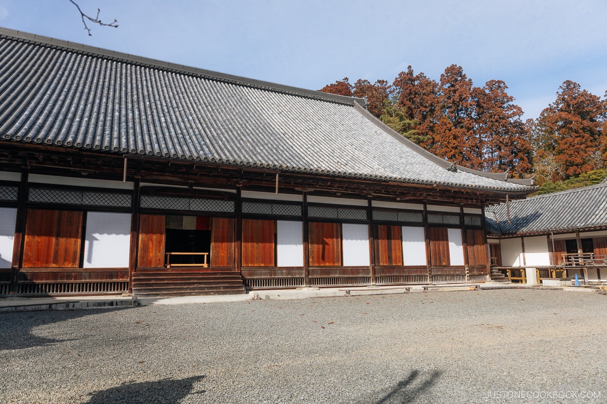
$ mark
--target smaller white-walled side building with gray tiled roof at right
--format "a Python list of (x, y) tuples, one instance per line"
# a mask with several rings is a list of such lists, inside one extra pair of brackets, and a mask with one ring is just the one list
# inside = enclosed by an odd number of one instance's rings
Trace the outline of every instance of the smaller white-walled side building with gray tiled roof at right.
[(576, 275), (580, 283), (605, 281), (606, 181), (486, 208), (492, 267), (532, 284)]

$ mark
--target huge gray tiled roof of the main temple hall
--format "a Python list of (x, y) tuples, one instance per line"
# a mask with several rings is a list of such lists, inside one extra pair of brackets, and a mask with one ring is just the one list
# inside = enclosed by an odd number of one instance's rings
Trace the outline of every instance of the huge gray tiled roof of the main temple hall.
[(361, 102), (0, 28), (4, 142), (509, 193), (531, 189), (504, 174), (453, 170)]

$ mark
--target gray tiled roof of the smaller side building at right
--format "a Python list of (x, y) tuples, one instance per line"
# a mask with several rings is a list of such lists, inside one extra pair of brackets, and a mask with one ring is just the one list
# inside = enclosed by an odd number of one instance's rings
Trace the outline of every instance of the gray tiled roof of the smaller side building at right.
[(514, 200), (485, 210), (493, 234), (544, 233), (607, 227), (607, 184)]

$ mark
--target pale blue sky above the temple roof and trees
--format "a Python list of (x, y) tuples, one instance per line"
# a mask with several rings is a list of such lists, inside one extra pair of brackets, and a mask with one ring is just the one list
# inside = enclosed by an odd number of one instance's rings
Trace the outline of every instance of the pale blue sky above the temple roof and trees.
[(0, 25), (232, 75), (318, 90), (390, 82), (408, 65), (501, 79), (537, 118), (567, 79), (607, 90), (605, 0), (0, 0)]

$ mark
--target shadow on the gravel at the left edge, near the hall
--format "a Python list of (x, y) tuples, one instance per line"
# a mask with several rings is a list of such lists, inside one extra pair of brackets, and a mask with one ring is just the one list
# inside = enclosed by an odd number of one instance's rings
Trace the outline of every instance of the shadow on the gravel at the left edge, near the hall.
[(49, 310), (49, 311), (21, 311), (17, 313), (1, 313), (0, 328), (0, 351), (7, 349), (26, 349), (35, 346), (45, 346), (58, 342), (72, 341), (74, 339), (52, 339), (37, 336), (32, 333), (33, 328), (77, 319), (84, 316), (92, 316), (109, 311), (127, 310), (131, 307), (116, 307), (103, 309), (76, 309), (76, 310)]

